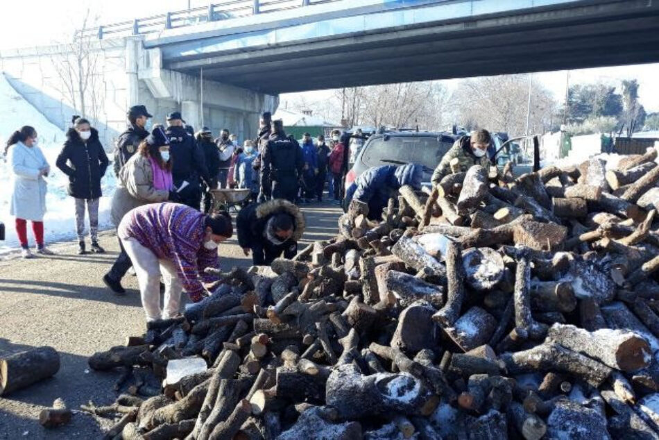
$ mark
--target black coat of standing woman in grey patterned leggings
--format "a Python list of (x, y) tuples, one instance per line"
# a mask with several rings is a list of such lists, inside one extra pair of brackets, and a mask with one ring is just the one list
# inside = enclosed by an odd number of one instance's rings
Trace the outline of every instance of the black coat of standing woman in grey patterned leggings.
[(109, 163), (96, 128), (92, 128), (92, 136), (87, 142), (74, 128), (69, 128), (67, 140), (55, 162), (62, 173), (69, 176), (69, 196), (75, 198), (101, 197), (101, 178)]

